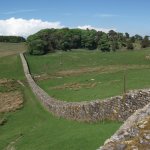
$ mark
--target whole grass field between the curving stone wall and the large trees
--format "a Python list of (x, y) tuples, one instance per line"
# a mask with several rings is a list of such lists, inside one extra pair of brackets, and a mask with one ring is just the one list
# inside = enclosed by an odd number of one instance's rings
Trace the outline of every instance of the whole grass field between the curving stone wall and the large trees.
[(89, 101), (150, 88), (150, 49), (102, 53), (74, 50), (26, 56), (37, 83), (52, 97)]

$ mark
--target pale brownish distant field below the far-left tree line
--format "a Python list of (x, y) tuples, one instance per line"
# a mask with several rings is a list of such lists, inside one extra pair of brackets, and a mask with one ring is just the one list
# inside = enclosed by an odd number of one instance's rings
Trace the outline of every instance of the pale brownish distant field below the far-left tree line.
[(2, 43), (0, 42), (0, 57), (18, 54), (26, 51), (25, 43)]

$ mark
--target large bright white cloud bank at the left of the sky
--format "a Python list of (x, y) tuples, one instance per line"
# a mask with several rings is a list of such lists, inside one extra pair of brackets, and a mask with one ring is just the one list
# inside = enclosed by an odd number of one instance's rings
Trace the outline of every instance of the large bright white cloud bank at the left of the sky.
[(27, 37), (45, 28), (63, 28), (60, 22), (48, 22), (40, 19), (10, 18), (0, 20), (0, 35), (18, 35)]

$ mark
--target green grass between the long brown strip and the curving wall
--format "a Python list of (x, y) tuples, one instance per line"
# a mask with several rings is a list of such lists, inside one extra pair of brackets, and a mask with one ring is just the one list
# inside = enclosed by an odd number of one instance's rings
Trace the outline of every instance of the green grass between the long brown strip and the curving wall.
[[(150, 69), (128, 70), (127, 90), (150, 88)], [(109, 74), (86, 74), (80, 77), (65, 77), (63, 79), (43, 80), (39, 85), (52, 97), (65, 101), (91, 101), (111, 96), (122, 95), (124, 72)], [(78, 78), (78, 79), (77, 79)], [(91, 81), (90, 79), (95, 79)], [(51, 89), (66, 83), (97, 83), (93, 88), (77, 89)]]

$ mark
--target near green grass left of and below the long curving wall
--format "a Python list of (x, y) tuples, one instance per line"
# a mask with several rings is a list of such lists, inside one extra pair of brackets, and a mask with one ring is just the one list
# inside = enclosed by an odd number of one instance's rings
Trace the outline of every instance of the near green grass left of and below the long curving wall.
[(95, 150), (121, 125), (79, 123), (53, 117), (31, 92), (18, 55), (1, 57), (0, 70), (1, 80), (20, 80), (24, 84), (18, 87), (24, 97), (23, 108), (0, 114), (7, 119), (0, 126), (0, 150)]

